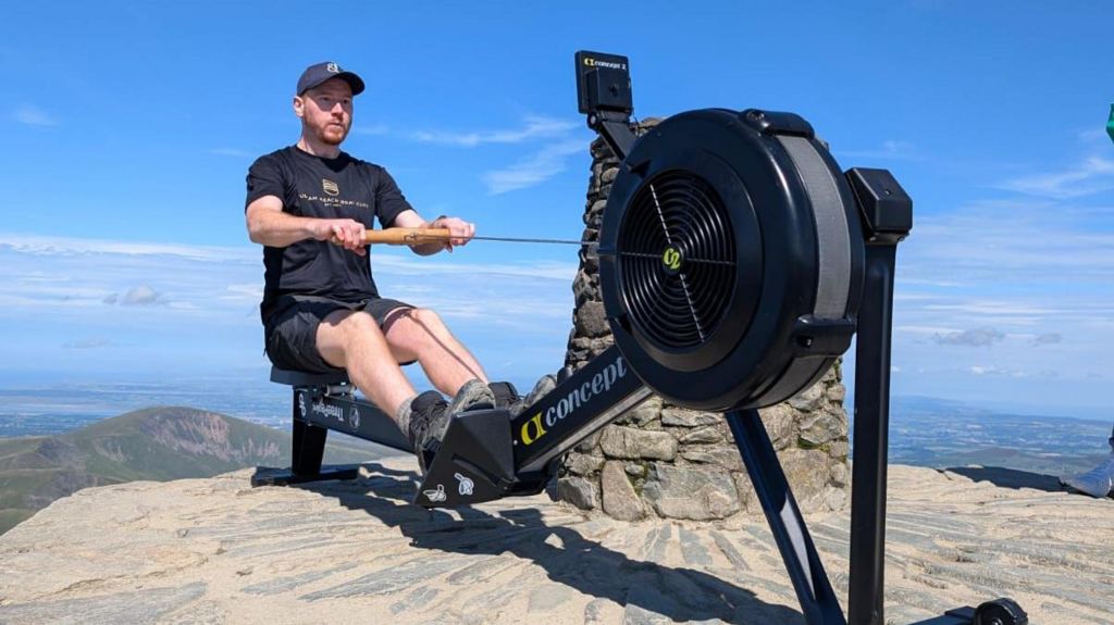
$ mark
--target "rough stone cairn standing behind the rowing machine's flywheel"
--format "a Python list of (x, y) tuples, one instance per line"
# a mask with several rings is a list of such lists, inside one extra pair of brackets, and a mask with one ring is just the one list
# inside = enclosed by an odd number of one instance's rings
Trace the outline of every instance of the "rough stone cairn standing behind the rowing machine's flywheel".
[[(644, 120), (637, 131), (656, 125)], [(618, 173), (602, 140), (592, 143), (584, 240), (598, 240), (600, 218)], [(566, 365), (578, 369), (612, 346), (599, 295), (598, 262), (580, 251)], [(761, 410), (766, 431), (803, 512), (841, 509), (848, 499), (846, 390), (836, 366), (797, 397)], [(564, 459), (558, 497), (623, 520), (692, 520), (761, 515), (762, 507), (726, 419), (652, 397), (582, 442)]]

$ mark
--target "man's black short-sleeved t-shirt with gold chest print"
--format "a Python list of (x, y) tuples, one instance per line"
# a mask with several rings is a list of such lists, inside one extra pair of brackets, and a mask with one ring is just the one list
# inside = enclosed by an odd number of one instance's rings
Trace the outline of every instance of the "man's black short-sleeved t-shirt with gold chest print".
[[(387, 170), (345, 152), (335, 159), (306, 153), (296, 146), (260, 157), (247, 171), (244, 210), (263, 196), (282, 199), (284, 212), (299, 217), (349, 218), (389, 228), (411, 206)], [(356, 302), (375, 297), (371, 255), (313, 239), (263, 248), (263, 323), (282, 296), (316, 296)]]

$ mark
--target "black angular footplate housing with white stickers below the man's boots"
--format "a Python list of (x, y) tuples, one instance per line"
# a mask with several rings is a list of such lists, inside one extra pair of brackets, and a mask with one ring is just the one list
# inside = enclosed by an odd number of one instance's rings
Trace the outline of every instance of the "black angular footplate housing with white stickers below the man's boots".
[(423, 453), (428, 469), (413, 499), (419, 506), (451, 508), (490, 502), (516, 486), (507, 410), (457, 415), (432, 457)]

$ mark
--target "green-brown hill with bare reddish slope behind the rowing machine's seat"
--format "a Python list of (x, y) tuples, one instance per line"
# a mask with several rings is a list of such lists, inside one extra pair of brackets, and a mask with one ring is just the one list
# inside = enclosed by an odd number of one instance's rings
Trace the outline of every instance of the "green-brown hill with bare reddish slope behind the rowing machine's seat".
[[(330, 439), (326, 463), (384, 455), (352, 438)], [(289, 431), (176, 406), (135, 410), (57, 436), (0, 438), (0, 534), (81, 488), (284, 467), (290, 450)]]

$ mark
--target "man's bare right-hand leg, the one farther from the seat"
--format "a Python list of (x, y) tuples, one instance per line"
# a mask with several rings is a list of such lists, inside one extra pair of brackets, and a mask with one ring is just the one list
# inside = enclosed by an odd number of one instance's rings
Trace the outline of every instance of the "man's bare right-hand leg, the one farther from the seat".
[(449, 397), (469, 380), (488, 383), (476, 358), (437, 312), (427, 308), (397, 308), (384, 318), (387, 345), (400, 363), (417, 360), (429, 381)]

